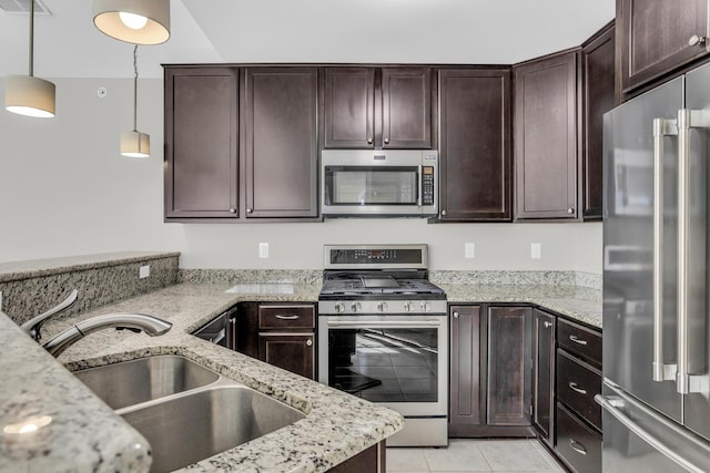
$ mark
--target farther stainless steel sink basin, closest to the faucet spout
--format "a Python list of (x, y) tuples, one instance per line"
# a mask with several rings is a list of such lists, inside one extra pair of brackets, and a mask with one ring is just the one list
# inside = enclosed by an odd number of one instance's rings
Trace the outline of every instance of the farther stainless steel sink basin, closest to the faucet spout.
[(121, 409), (215, 382), (220, 377), (179, 356), (154, 356), (74, 372), (111, 408)]

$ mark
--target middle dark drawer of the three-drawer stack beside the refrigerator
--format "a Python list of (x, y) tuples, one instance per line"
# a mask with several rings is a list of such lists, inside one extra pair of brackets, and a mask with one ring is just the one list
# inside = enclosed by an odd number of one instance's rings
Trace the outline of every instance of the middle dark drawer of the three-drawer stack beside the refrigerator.
[(591, 366), (557, 350), (557, 399), (601, 430), (601, 373)]

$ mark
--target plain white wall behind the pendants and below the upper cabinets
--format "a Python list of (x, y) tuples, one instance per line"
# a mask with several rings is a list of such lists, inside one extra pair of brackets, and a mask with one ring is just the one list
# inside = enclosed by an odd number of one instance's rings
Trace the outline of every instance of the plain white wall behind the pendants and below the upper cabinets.
[[(57, 117), (0, 111), (0, 261), (136, 249), (182, 251), (183, 268), (313, 269), (326, 243), (427, 243), (432, 269), (601, 273), (601, 224), (163, 224), (162, 80), (139, 81), (138, 128), (152, 150), (142, 161), (118, 152), (132, 128), (131, 80), (54, 82)], [(260, 241), (271, 258), (257, 257)], [(476, 258), (464, 259), (464, 241), (476, 244)], [(540, 259), (529, 257), (532, 241)]]

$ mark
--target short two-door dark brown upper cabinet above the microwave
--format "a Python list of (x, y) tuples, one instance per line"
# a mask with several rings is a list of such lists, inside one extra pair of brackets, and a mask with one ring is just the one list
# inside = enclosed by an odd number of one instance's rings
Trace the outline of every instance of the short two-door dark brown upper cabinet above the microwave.
[(430, 68), (326, 68), (324, 147), (430, 148)]

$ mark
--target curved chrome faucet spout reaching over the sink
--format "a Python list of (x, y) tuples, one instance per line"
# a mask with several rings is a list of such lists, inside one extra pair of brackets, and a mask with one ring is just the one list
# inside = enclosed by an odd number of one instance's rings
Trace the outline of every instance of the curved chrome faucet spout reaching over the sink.
[(42, 347), (52, 356), (59, 357), (70, 346), (98, 330), (115, 327), (134, 331), (142, 330), (151, 337), (156, 337), (166, 333), (172, 326), (169, 321), (143, 313), (106, 313), (92, 317), (68, 328)]

